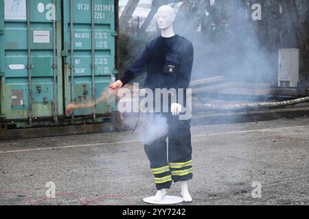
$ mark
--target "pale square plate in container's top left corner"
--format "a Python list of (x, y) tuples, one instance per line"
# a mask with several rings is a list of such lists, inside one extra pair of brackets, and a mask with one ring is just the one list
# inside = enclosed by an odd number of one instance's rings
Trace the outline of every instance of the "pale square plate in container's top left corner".
[(27, 20), (25, 0), (4, 0), (5, 20)]

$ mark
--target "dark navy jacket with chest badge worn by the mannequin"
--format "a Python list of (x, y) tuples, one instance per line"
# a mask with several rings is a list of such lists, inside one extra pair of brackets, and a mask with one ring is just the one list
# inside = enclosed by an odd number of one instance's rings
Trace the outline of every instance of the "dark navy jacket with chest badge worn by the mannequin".
[(192, 43), (176, 34), (159, 36), (146, 45), (141, 56), (120, 79), (124, 85), (147, 72), (144, 88), (188, 88), (192, 74)]

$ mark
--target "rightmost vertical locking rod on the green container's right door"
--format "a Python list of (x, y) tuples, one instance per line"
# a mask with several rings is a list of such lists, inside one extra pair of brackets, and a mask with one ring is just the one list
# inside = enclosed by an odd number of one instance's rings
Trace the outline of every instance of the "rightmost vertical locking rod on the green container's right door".
[(92, 32), (92, 63), (91, 63), (91, 75), (92, 75), (92, 101), (95, 103), (93, 106), (93, 120), (95, 120), (95, 107), (97, 106), (96, 100), (95, 100), (95, 14), (94, 14), (94, 0), (91, 0), (91, 32)]

